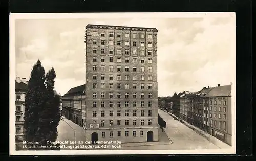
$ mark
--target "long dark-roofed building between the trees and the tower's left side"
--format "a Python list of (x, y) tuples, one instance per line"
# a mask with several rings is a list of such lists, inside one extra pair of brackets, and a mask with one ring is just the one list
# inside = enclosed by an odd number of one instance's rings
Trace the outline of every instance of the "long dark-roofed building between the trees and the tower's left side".
[(84, 109), (86, 105), (84, 88), (85, 85), (71, 88), (65, 95), (62, 96), (61, 114), (80, 126), (83, 126), (83, 122), (85, 120), (85, 118), (82, 117), (82, 113), (85, 112)]

